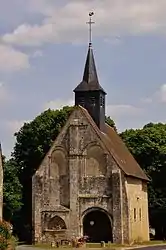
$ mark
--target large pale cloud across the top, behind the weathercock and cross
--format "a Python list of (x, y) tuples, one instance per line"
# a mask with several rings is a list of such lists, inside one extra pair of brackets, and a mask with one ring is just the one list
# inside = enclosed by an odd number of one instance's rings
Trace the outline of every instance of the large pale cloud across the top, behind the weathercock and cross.
[(94, 36), (164, 33), (165, 0), (29, 0), (28, 9), (44, 15), (41, 25), (22, 24), (2, 39), (9, 44), (42, 45), (47, 42), (79, 42), (87, 38), (87, 13), (94, 10)]

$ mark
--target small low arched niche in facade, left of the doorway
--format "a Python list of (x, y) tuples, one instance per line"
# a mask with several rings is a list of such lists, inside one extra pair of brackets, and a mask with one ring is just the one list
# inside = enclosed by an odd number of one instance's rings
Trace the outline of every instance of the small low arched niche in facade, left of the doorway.
[(48, 229), (65, 230), (67, 229), (65, 221), (60, 216), (54, 216), (48, 221)]

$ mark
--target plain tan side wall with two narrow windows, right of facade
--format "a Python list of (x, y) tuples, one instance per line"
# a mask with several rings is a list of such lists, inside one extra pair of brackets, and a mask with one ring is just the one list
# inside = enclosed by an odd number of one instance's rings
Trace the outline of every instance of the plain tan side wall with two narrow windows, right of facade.
[(149, 240), (149, 216), (147, 183), (136, 179), (126, 179), (126, 189), (129, 202), (129, 239), (134, 241)]

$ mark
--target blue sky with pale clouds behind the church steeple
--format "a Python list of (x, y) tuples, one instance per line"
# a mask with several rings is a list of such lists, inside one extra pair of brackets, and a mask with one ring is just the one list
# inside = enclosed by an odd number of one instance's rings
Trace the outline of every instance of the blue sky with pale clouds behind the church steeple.
[(166, 122), (166, 0), (0, 0), (0, 141), (48, 108), (72, 105), (93, 11), (106, 113), (119, 131)]

